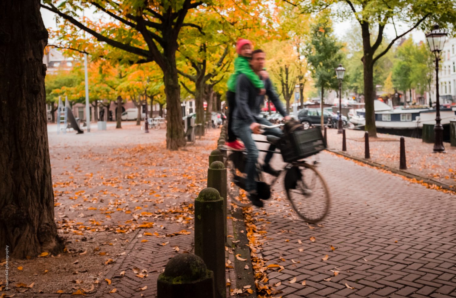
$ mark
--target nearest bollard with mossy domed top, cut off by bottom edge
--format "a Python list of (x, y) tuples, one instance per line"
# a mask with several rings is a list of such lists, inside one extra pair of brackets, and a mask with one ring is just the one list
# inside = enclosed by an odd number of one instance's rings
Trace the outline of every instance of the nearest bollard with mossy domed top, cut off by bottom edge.
[(157, 298), (215, 298), (214, 275), (194, 254), (182, 253), (166, 264), (157, 280)]

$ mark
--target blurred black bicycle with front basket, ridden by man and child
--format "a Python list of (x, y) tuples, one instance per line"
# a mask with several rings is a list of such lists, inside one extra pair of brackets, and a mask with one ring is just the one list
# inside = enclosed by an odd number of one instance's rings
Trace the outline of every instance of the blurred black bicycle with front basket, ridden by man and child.
[[(284, 124), (261, 125), (260, 127), (263, 129), (276, 128), (282, 125)], [(285, 167), (280, 170), (280, 174), (275, 176), (269, 184), (264, 181), (264, 173), (257, 164), (255, 180), (259, 184), (259, 196), (268, 196), (268, 192), (270, 195), (270, 186), (285, 174), (283, 184), (286, 195), (298, 216), (308, 223), (321, 221), (329, 209), (331, 201), (329, 190), (326, 181), (316, 170), (318, 162), (314, 161), (313, 164), (309, 164), (302, 160), (326, 149), (321, 129), (309, 128), (295, 131), (290, 134), (290, 139), (267, 135), (266, 141), (255, 140), (255, 142), (276, 144), (280, 151), (274, 151), (274, 153), (281, 154), (286, 163)], [(259, 151), (269, 152), (269, 150), (262, 149)], [(228, 197), (234, 204), (243, 207), (252, 205), (246, 193), (242, 193), (246, 177), (243, 172), (245, 160), (246, 151), (231, 151), (225, 161), (225, 168), (228, 170)]]

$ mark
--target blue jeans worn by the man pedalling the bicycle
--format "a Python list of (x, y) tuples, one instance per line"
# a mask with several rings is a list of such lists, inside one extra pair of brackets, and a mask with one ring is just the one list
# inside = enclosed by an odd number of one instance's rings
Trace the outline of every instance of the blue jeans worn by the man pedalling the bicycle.
[[(272, 125), (268, 120), (260, 117), (256, 117), (257, 123), (264, 125)], [(245, 190), (252, 191), (257, 189), (257, 184), (255, 181), (256, 176), (256, 164), (258, 162), (258, 148), (255, 144), (254, 139), (252, 138), (252, 130), (250, 129), (250, 124), (246, 123), (244, 120), (233, 119), (233, 129), (236, 131), (239, 139), (244, 142), (245, 148), (247, 149), (247, 161), (245, 163), (245, 174), (247, 174), (247, 180), (245, 183)], [(280, 128), (265, 128), (265, 135), (271, 134), (277, 137), (283, 135)], [(275, 150), (275, 145), (269, 145), (269, 151)], [(269, 164), (271, 161), (273, 153), (268, 152), (264, 157), (264, 164)]]

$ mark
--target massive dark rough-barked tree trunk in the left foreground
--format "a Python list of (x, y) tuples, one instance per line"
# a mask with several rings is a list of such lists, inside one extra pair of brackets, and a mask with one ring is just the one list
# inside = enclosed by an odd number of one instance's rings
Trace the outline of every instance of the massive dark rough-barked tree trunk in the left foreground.
[(57, 254), (40, 1), (0, 1), (0, 28), (0, 247), (17, 258)]

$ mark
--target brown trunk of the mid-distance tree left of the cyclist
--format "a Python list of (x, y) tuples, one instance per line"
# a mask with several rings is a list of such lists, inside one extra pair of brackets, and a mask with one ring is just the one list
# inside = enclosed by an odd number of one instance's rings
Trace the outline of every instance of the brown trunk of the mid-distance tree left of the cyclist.
[(185, 146), (181, 111), (181, 88), (177, 77), (176, 57), (168, 57), (163, 69), (166, 94), (166, 149), (177, 150)]

